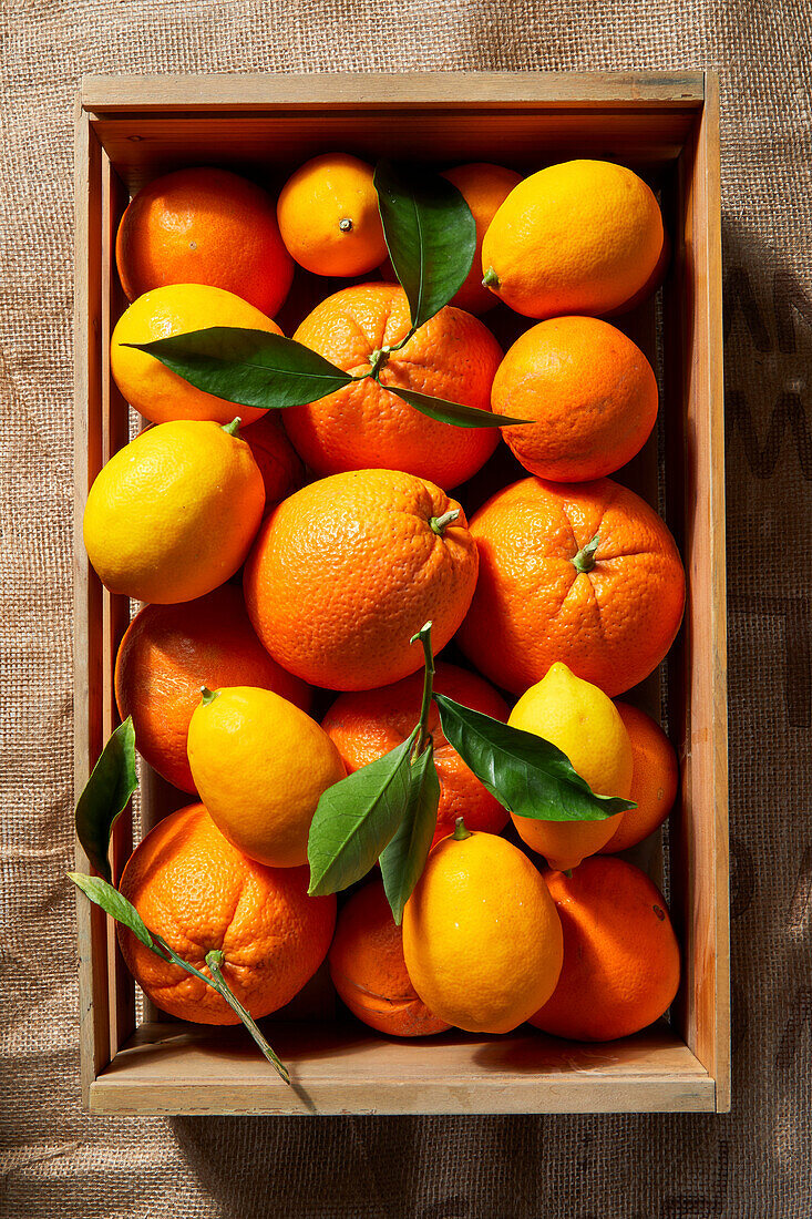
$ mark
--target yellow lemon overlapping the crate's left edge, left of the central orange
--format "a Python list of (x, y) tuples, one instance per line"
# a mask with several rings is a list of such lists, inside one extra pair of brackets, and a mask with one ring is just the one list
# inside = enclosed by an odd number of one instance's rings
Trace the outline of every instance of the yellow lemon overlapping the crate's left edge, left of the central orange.
[(244, 440), (217, 423), (161, 423), (99, 473), (84, 545), (111, 592), (191, 601), (243, 564), (263, 508), (262, 474)]

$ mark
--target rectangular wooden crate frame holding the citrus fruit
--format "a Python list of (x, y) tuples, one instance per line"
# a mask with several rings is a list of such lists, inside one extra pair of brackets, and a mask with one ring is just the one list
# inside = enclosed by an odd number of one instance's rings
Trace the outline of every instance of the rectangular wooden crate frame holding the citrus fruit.
[[(674, 257), (654, 302), (622, 319), (657, 358), (664, 393), (660, 463), (651, 442), (632, 482), (658, 494), (689, 579), (668, 662), (682, 796), (671, 818), (669, 886), (683, 945), (671, 1025), (602, 1046), (519, 1030), (396, 1042), (357, 1023), (269, 1025), (291, 1068), (285, 1087), (243, 1030), (207, 1030), (150, 1011), (115, 936), (79, 897), (82, 1086), (93, 1112), (554, 1113), (729, 1108), (724, 467), (717, 80), (711, 73), (421, 73), (85, 78), (76, 145), (76, 790), (116, 724), (112, 668), (129, 607), (82, 547), (82, 513), (104, 461), (127, 440), (107, 362), (122, 310), (115, 227), (157, 173), (216, 163), (284, 174), (326, 149), (438, 165), (495, 161), (532, 171), (573, 155), (641, 167), (661, 191)], [(664, 451), (664, 460), (663, 460)], [(661, 477), (657, 482), (657, 469)], [(663, 474), (664, 471), (664, 474)], [(623, 475), (622, 475), (623, 477)], [(664, 497), (664, 499), (663, 499)], [(176, 794), (174, 806), (185, 802)], [(168, 797), (172, 800), (172, 796)], [(167, 807), (143, 783), (150, 824)], [(121, 818), (113, 867), (132, 847)], [(77, 868), (88, 863), (77, 850)]]

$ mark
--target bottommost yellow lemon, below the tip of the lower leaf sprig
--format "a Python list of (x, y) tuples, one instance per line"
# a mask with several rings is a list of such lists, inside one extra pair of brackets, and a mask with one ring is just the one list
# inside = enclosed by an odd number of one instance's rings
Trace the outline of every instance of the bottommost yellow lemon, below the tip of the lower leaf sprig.
[(458, 824), (429, 855), (406, 903), (404, 957), (439, 1019), (469, 1032), (510, 1032), (555, 990), (561, 920), (522, 851)]

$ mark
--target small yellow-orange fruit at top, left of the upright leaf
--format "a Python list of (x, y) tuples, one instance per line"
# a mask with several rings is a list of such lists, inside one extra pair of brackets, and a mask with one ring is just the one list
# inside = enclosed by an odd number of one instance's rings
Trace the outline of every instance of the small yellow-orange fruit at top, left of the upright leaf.
[(277, 204), (282, 239), (316, 275), (366, 275), (386, 257), (372, 166), (326, 152), (300, 166)]

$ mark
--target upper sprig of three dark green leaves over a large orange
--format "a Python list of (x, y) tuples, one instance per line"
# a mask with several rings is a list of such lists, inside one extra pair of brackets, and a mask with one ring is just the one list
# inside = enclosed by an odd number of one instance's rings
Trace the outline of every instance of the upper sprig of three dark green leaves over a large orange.
[[(196, 389), (260, 410), (317, 402), (352, 380), (380, 383), (380, 371), (393, 351), (405, 346), (465, 283), (477, 249), (477, 226), (457, 188), (440, 174), (382, 161), (374, 183), (386, 249), (408, 300), (411, 327), (397, 344), (373, 352), (368, 372), (351, 377), (294, 339), (227, 325), (128, 346), (155, 356)], [(527, 422), (417, 390), (388, 389), (423, 414), (460, 428)]]

